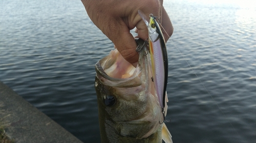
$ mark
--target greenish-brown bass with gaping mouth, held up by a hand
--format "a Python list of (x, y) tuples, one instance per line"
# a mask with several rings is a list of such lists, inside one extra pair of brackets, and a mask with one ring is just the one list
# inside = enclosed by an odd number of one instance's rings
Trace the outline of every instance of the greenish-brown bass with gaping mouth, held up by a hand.
[[(135, 39), (139, 50), (137, 67), (117, 49), (95, 64), (101, 142), (172, 142), (163, 121), (152, 64), (145, 41)], [(165, 102), (168, 102), (167, 94)], [(164, 108), (167, 113), (167, 105)]]

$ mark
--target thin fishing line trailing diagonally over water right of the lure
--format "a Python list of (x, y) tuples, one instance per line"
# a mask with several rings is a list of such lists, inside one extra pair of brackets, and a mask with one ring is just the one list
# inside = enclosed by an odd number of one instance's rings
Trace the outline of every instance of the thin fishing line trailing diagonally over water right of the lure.
[[(162, 30), (164, 30), (162, 24), (159, 23), (159, 25), (162, 27)], [(165, 34), (169, 37), (170, 36), (167, 34), (167, 32), (164, 30)], [(173, 42), (174, 46), (176, 47), (176, 49), (180, 52), (181, 56), (183, 57), (183, 59), (186, 61), (187, 65), (189, 66), (189, 68), (193, 71), (193, 73), (197, 76), (198, 80), (201, 82), (201, 84), (203, 85), (204, 89), (207, 91), (208, 95), (211, 97), (212, 100), (214, 100), (215, 105), (217, 105), (217, 107), (219, 108), (219, 110), (221, 111), (222, 115), (224, 115), (225, 118), (227, 118), (227, 116), (225, 115), (225, 113), (222, 111), (222, 109), (220, 108), (220, 106), (218, 105), (217, 101), (214, 99), (214, 97), (212, 97), (212, 95), (209, 93), (209, 91), (206, 89), (206, 87), (204, 86), (203, 82), (199, 79), (198, 75), (196, 74), (196, 72), (193, 70), (193, 68), (188, 64), (187, 60), (185, 59), (185, 57), (183, 56), (183, 54), (181, 53), (181, 51), (179, 50), (179, 48), (175, 45), (174, 41), (172, 39), (170, 39), (170, 41)], [(228, 120), (229, 124), (232, 126), (233, 130), (236, 131), (236, 133), (239, 135), (238, 131), (234, 128), (234, 126), (231, 124), (231, 122)]]

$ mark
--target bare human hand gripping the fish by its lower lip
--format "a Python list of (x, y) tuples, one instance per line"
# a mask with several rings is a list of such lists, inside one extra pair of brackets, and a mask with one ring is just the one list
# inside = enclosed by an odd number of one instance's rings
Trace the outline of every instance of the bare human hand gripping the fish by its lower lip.
[(134, 64), (138, 62), (136, 42), (130, 30), (137, 28), (138, 38), (148, 38), (147, 26), (138, 14), (141, 10), (145, 15), (153, 14), (160, 17), (165, 42), (173, 34), (173, 25), (160, 0), (81, 0), (93, 23), (105, 34), (121, 53), (123, 58)]

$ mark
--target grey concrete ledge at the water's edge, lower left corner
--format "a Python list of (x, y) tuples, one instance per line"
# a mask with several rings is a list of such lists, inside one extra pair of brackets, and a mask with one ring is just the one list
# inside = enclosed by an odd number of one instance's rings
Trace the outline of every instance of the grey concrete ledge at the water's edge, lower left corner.
[(0, 126), (15, 142), (81, 142), (1, 81)]

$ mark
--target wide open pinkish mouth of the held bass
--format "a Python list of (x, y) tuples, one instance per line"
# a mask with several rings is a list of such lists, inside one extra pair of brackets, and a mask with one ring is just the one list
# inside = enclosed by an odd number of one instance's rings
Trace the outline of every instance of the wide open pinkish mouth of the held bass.
[(105, 85), (112, 87), (137, 87), (141, 85), (138, 75), (141, 70), (136, 69), (124, 60), (117, 49), (112, 50), (108, 56), (98, 61), (95, 65), (97, 76)]

